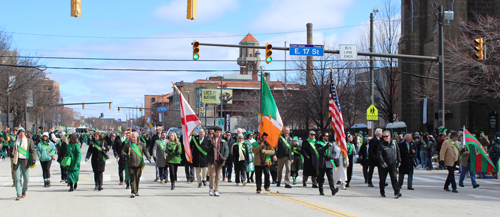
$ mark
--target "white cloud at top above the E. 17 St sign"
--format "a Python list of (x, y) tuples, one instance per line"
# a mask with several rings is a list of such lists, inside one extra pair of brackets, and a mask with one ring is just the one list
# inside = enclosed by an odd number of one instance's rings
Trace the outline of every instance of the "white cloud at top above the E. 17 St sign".
[(250, 27), (267, 31), (325, 28), (344, 24), (347, 8), (354, 0), (267, 0), (269, 6), (257, 16)]

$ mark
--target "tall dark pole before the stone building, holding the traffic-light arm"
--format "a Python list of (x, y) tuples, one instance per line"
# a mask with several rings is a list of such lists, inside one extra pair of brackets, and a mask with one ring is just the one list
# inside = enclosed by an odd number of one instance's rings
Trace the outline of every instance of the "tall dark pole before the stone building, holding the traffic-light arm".
[(438, 7), (438, 32), (439, 32), (439, 124), (445, 126), (445, 110), (444, 110), (444, 12), (443, 6)]

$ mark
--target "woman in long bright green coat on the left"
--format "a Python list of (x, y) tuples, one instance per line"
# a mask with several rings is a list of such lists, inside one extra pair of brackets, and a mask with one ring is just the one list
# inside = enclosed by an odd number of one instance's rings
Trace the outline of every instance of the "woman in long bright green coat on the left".
[(64, 157), (70, 157), (71, 163), (66, 167), (68, 173), (69, 191), (72, 192), (76, 189), (78, 177), (80, 176), (80, 160), (82, 153), (80, 152), (80, 144), (76, 139), (76, 134), (69, 135), (69, 144)]

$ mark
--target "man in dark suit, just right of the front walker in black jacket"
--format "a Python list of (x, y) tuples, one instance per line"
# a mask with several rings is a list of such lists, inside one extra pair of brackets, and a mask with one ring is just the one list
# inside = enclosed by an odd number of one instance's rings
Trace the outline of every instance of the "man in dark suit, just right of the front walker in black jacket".
[(406, 134), (404, 141), (399, 143), (401, 165), (399, 166), (399, 187), (403, 187), (405, 174), (408, 174), (408, 190), (413, 190), (413, 167), (415, 167), (415, 146), (411, 134)]

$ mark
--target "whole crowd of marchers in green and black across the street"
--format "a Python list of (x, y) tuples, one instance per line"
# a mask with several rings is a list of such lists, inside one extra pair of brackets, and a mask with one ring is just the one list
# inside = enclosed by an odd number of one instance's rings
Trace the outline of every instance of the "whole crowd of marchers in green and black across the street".
[[(455, 181), (456, 166), (459, 167), (460, 187), (469, 173), (473, 188), (479, 187), (477, 178), (496, 178), (497, 173), (486, 174), (470, 172), (469, 148), (464, 145), (463, 132), (446, 133), (440, 128), (433, 134), (394, 134), (378, 128), (374, 137), (362, 132), (347, 135), (346, 147), (333, 142), (328, 132), (309, 131), (307, 138), (292, 137), (289, 128), (284, 128), (276, 145), (266, 141), (267, 134), (237, 129), (236, 134), (222, 132), (216, 127), (205, 132), (203, 129), (193, 135), (189, 147), (191, 162), (186, 160), (182, 139), (171, 132), (169, 135), (161, 127), (149, 135), (146, 132), (122, 130), (120, 134), (100, 132), (71, 133), (56, 132), (54, 129), (41, 135), (27, 134), (23, 128), (8, 126), (0, 133), (2, 157), (11, 159), (12, 186), (16, 189), (16, 200), (26, 197), (29, 182), (29, 169), (40, 162), (44, 187), (51, 187), (50, 168), (52, 161), (60, 164), (61, 183), (74, 191), (78, 187), (83, 144), (88, 145), (85, 161), (90, 160), (94, 172), (96, 191), (102, 191), (103, 173), (106, 161), (116, 160), (118, 164), (119, 185), (130, 189), (130, 197), (139, 196), (139, 182), (145, 160), (155, 162), (155, 182), (170, 182), (171, 190), (178, 181), (177, 170), (183, 164), (188, 182), (198, 183), (198, 188), (209, 186), (210, 196), (220, 196), (220, 181), (234, 182), (245, 186), (255, 182), (256, 193), (270, 191), (271, 184), (292, 188), (297, 185), (299, 171), (302, 170), (302, 186), (307, 187), (309, 177), (312, 188), (324, 195), (325, 175), (332, 195), (339, 189), (349, 187), (353, 164), (361, 163), (363, 176), (368, 187), (374, 187), (372, 177), (375, 168), (379, 174), (380, 195), (385, 197), (387, 175), (391, 180), (394, 197), (402, 196), (400, 189), (407, 177), (408, 190), (412, 186), (415, 168), (432, 170), (433, 156), (437, 154), (439, 166), (447, 169), (448, 176), (444, 190), (458, 193)], [(495, 165), (500, 157), (500, 134), (496, 133), (490, 143), (484, 133), (480, 141)], [(110, 152), (111, 151), (111, 152)], [(112, 156), (110, 156), (112, 154)], [(283, 172), (284, 170), (284, 172)], [(495, 170), (496, 172), (497, 170)], [(284, 176), (283, 176), (284, 173)], [(398, 176), (399, 173), (399, 176)], [(339, 187), (336, 187), (336, 186)]]

